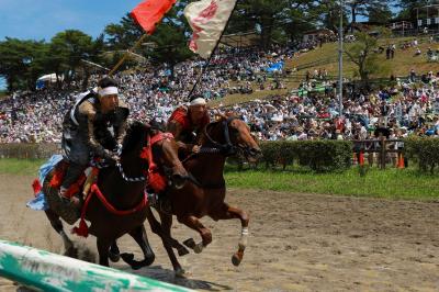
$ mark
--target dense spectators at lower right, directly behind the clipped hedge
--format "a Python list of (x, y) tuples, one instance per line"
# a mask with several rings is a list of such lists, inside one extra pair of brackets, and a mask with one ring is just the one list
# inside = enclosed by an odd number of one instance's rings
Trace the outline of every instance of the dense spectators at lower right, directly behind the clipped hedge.
[[(439, 135), (436, 82), (419, 86), (398, 81), (398, 86), (373, 92), (358, 92), (347, 87), (339, 117), (339, 102), (330, 91), (290, 94), (270, 101), (234, 105), (257, 133), (259, 139), (369, 139), (385, 128), (390, 138), (408, 134)], [(299, 93), (299, 92), (297, 92)], [(436, 114), (436, 115), (435, 115)]]

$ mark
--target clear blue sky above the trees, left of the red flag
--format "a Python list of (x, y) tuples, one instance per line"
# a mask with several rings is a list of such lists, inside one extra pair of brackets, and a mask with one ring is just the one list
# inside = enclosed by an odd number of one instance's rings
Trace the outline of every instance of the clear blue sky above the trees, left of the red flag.
[(75, 29), (98, 36), (142, 0), (0, 0), (0, 41), (5, 36), (49, 41)]

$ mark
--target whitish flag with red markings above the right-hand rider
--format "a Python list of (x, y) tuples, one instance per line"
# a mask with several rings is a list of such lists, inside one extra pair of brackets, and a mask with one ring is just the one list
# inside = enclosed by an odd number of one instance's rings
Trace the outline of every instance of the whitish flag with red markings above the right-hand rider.
[(219, 41), (236, 0), (201, 0), (187, 5), (184, 15), (193, 30), (189, 48), (209, 58)]

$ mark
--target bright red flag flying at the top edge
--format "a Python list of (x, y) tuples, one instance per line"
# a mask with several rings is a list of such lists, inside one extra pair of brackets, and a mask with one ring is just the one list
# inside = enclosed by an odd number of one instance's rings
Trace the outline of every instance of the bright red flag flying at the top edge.
[(177, 0), (146, 0), (139, 3), (131, 15), (147, 32), (153, 34), (158, 23)]

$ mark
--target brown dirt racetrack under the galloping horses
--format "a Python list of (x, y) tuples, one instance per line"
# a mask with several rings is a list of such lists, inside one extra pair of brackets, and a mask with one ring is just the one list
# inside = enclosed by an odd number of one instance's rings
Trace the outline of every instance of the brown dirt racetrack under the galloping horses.
[[(44, 213), (25, 207), (31, 181), (0, 175), (0, 238), (61, 252), (61, 240)], [(229, 190), (227, 201), (250, 214), (249, 245), (238, 268), (230, 256), (239, 222), (205, 218), (214, 240), (203, 254), (179, 258), (187, 279), (175, 279), (159, 238), (150, 232), (156, 261), (135, 273), (201, 291), (439, 290), (438, 202), (243, 190)], [(172, 232), (179, 240), (200, 240), (179, 224)], [(95, 250), (94, 238), (75, 240)], [(132, 238), (123, 237), (120, 246), (139, 257)], [(130, 271), (124, 263), (112, 267)], [(0, 291), (16, 290), (0, 279)]]

